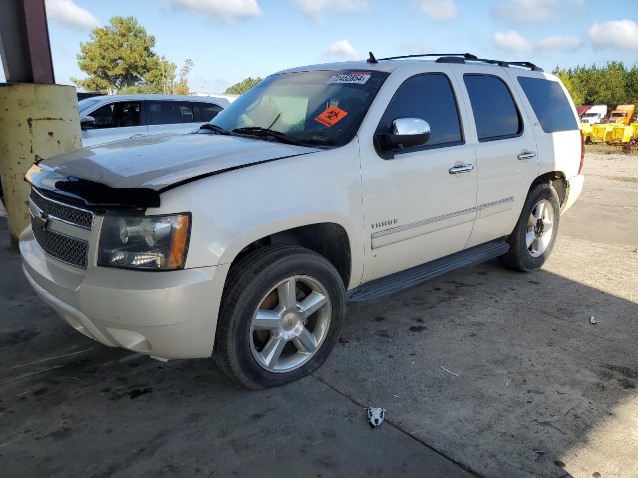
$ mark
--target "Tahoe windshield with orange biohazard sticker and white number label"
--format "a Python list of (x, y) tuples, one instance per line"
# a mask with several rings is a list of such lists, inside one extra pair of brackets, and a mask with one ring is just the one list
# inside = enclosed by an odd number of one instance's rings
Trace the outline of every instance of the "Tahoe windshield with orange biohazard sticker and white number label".
[(220, 112), (210, 124), (226, 131), (272, 129), (304, 145), (340, 147), (352, 140), (387, 76), (380, 71), (351, 70), (268, 76)]

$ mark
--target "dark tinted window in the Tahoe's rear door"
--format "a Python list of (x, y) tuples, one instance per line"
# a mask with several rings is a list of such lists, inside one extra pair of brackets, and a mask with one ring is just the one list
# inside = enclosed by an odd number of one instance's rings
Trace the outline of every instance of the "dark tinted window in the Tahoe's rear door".
[(463, 75), (479, 141), (500, 140), (523, 131), (512, 94), (496, 76)]

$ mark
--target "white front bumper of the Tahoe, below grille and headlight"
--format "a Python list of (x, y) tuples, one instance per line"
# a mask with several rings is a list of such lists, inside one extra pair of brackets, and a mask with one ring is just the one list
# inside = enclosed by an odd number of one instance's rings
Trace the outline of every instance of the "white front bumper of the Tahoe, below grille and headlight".
[(158, 358), (211, 356), (230, 264), (170, 272), (78, 270), (47, 256), (31, 226), (20, 235), (20, 252), (34, 291), (87, 337)]

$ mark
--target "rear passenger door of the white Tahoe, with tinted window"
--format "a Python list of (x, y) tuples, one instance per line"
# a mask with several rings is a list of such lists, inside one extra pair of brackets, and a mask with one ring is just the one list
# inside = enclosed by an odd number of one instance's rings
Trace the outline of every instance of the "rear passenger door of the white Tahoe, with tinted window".
[(509, 235), (538, 176), (536, 139), (504, 68), (455, 65), (477, 160), (477, 214), (468, 247)]

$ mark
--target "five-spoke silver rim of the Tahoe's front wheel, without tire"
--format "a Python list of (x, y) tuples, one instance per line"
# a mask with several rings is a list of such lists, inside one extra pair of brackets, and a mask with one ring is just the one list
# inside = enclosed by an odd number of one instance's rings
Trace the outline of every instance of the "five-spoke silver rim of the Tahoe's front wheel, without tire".
[(305, 275), (282, 280), (260, 301), (250, 327), (250, 349), (269, 372), (291, 372), (311, 359), (330, 330), (327, 289)]

